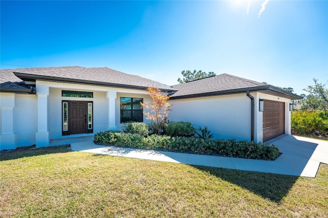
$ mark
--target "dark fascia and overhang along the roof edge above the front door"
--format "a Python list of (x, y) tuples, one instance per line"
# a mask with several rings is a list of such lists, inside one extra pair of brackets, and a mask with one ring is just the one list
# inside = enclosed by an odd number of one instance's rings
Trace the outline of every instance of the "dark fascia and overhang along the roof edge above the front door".
[[(66, 82), (66, 83), (75, 83), (75, 84), (84, 84), (84, 85), (100, 85), (107, 86), (113, 88), (126, 88), (126, 89), (134, 89), (134, 90), (147, 90), (147, 86), (137, 86), (137, 85), (127, 85), (127, 84), (117, 84), (110, 82), (100, 82), (100, 81), (90, 81), (90, 80), (82, 80), (82, 79), (72, 79), (72, 78), (63, 78), (63, 77), (53, 77), (53, 76), (44, 76), (44, 75), (34, 75), (34, 74), (26, 74), (26, 73), (18, 73), (13, 72), (15, 76), (19, 79), (28, 82), (35, 82), (36, 80), (40, 81), (50, 81), (50, 82)], [(172, 92), (176, 90), (171, 89), (160, 89), (162, 92)]]

